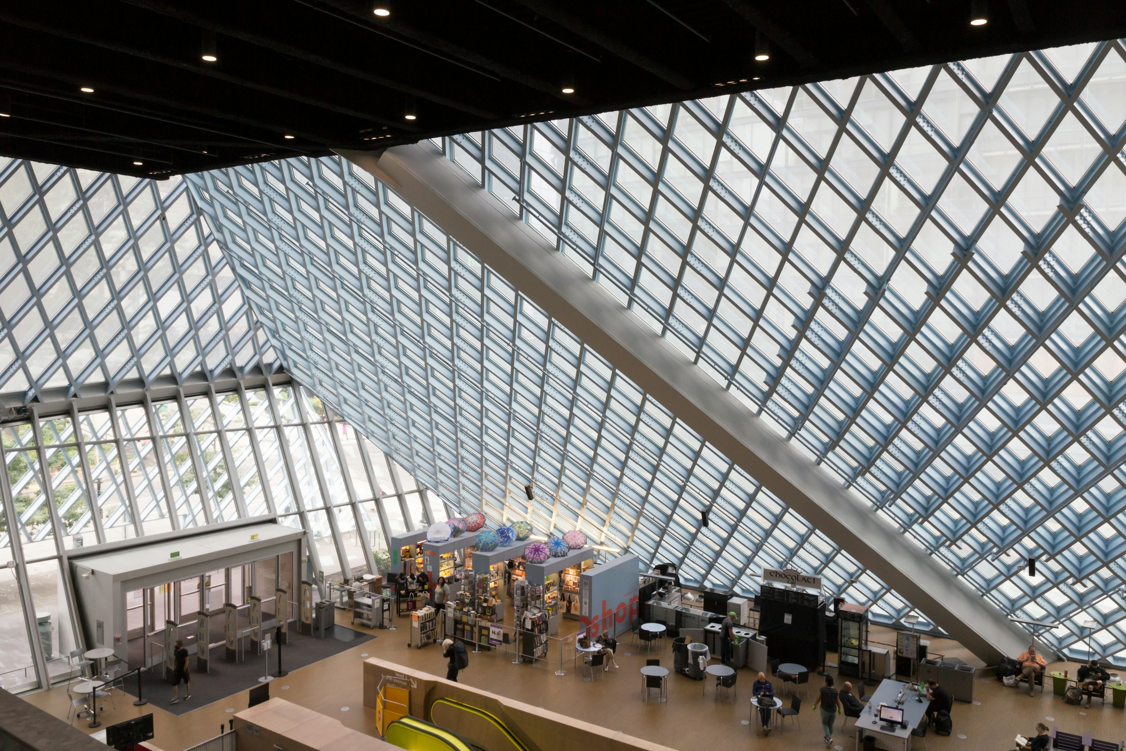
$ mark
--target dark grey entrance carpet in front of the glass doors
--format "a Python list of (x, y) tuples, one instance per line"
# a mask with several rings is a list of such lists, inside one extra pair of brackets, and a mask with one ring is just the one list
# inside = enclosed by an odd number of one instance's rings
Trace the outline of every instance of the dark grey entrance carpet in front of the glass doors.
[[(375, 638), (374, 635), (361, 634), (345, 626), (334, 626), (329, 633), (331, 637), (315, 638), (291, 632), (289, 644), (282, 647), (282, 668), (292, 672)], [(206, 673), (196, 672), (196, 659), (195, 656), (189, 658), (191, 698), (187, 701), (184, 700), (184, 683), (180, 683), (180, 700), (176, 704), (169, 704), (172, 698), (172, 687), (163, 679), (160, 667), (141, 673), (144, 698), (161, 709), (171, 712), (173, 715), (185, 715), (193, 709), (198, 709), (220, 700), (226, 700), (226, 706), (232, 707), (235, 712), (245, 709), (247, 696), (234, 695), (260, 686), (258, 678), (266, 670), (265, 658), (248, 654), (245, 661), (234, 663), (224, 660), (223, 653), (224, 650), (222, 647), (212, 650), (211, 671)], [(270, 650), (269, 661), (269, 674), (272, 676), (278, 665), (277, 649)], [(277, 680), (285, 683), (285, 678)], [(272, 696), (278, 687), (271, 686), (270, 688), (270, 695)], [(126, 679), (125, 690), (129, 695), (136, 694), (136, 676)], [(125, 698), (116, 691), (115, 695), (117, 701), (132, 700), (132, 698)]]

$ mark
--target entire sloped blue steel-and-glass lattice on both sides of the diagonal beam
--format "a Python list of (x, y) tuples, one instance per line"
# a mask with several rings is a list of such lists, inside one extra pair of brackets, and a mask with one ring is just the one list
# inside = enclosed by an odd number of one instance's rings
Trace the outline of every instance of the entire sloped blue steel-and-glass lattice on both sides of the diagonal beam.
[[(1121, 660), (1124, 55), (1112, 41), (434, 145), (1002, 611)], [(881, 619), (910, 611), (361, 171), (191, 180), (295, 377), (452, 504), (581, 525), (708, 584), (824, 570)]]

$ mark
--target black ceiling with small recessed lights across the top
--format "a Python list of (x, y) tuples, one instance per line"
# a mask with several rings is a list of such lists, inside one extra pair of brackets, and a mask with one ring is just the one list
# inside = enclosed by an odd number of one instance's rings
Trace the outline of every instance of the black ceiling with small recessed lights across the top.
[[(981, 27), (969, 5), (8, 3), (0, 153), (162, 177), (1126, 36), (1120, 0), (994, 0)], [(200, 59), (209, 34), (216, 62)]]

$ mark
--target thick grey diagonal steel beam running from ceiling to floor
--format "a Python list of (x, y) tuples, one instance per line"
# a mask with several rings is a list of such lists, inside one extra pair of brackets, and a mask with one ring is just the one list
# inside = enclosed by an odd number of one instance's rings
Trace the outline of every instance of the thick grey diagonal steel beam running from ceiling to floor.
[(778, 437), (453, 162), (422, 145), (340, 155), (385, 180), (988, 664), (1028, 644), (1024, 629)]

